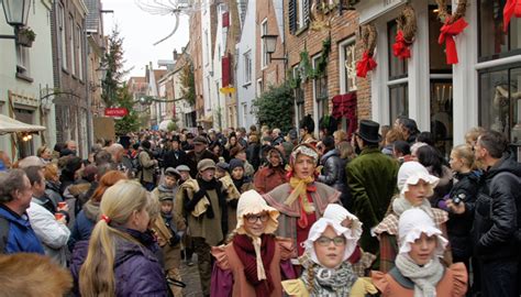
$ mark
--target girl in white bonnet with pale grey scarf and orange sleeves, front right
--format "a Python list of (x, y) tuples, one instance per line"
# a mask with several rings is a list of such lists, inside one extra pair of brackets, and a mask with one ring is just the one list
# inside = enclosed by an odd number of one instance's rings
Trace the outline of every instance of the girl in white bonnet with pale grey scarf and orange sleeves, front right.
[(463, 263), (445, 268), (441, 257), (447, 245), (434, 221), (423, 210), (409, 209), (398, 223), (400, 250), (396, 267), (373, 272), (373, 283), (383, 297), (461, 297), (468, 275)]

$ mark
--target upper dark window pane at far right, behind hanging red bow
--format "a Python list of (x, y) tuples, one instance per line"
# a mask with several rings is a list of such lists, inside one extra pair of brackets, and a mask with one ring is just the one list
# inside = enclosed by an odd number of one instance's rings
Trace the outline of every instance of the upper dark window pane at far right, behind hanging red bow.
[(479, 61), (521, 54), (521, 19), (510, 19), (503, 31), (505, 0), (480, 0), (479, 16)]

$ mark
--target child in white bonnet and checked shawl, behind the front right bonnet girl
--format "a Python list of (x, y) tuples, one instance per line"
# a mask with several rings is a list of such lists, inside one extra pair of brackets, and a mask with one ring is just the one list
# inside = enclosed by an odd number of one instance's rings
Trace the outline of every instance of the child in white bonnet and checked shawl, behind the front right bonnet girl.
[[(398, 172), (398, 189), (400, 194), (390, 206), (389, 215), (374, 228), (375, 233), (380, 241), (380, 271), (388, 272), (395, 266), (395, 258), (398, 254), (397, 234), (398, 220), (403, 211), (418, 208), (423, 210), (442, 230), (446, 237), (446, 221), (448, 215), (446, 211), (432, 208), (429, 198), (434, 193), (439, 178), (430, 175), (423, 165), (411, 161), (403, 163)], [(445, 263), (452, 263), (451, 251), (445, 252)]]

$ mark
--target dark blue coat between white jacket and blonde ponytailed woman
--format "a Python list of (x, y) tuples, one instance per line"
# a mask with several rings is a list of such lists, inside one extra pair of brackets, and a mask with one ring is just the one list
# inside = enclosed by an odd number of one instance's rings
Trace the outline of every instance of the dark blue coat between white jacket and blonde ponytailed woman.
[(74, 250), (76, 242), (90, 239), (90, 234), (92, 233), (92, 229), (95, 229), (99, 216), (99, 204), (95, 204), (92, 200), (89, 200), (87, 204), (85, 204), (84, 208), (76, 217), (76, 221), (74, 222), (73, 231), (70, 233), (70, 239), (67, 243), (70, 251)]

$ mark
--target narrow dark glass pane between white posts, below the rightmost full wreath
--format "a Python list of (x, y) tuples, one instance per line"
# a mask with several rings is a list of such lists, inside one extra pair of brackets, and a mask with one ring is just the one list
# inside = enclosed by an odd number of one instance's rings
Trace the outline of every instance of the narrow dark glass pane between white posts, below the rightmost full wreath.
[(453, 98), (452, 80), (431, 80), (431, 133), (445, 157), (453, 146)]

